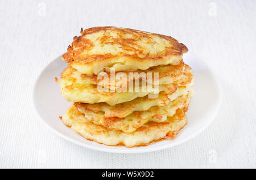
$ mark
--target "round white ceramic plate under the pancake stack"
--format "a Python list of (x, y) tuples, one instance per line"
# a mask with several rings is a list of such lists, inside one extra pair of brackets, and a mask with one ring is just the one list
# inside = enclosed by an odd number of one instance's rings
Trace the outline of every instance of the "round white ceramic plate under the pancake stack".
[(55, 77), (59, 78), (61, 71), (67, 67), (67, 63), (63, 62), (61, 57), (54, 59), (44, 68), (36, 80), (33, 94), (35, 109), (42, 121), (54, 132), (86, 148), (114, 153), (141, 153), (174, 147), (195, 137), (209, 126), (216, 116), (221, 102), (220, 87), (210, 68), (192, 53), (184, 55), (184, 62), (192, 67), (192, 72), (195, 75), (195, 84), (192, 88), (196, 93), (192, 97), (186, 113), (188, 124), (174, 140), (163, 140), (146, 147), (111, 147), (86, 140), (65, 126), (60, 121), (59, 115), (63, 115), (71, 103), (61, 96), (60, 87), (55, 82)]

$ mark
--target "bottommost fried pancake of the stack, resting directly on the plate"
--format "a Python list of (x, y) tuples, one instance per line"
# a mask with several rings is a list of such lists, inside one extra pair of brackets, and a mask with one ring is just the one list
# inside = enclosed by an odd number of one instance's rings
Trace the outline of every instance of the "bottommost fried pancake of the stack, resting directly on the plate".
[(84, 138), (105, 145), (125, 145), (128, 148), (148, 145), (162, 139), (174, 139), (177, 133), (187, 124), (185, 113), (177, 109), (175, 115), (168, 117), (166, 122), (149, 122), (136, 131), (125, 133), (123, 131), (110, 131), (105, 127), (94, 125), (85, 121), (84, 114), (76, 106), (71, 106), (62, 120)]

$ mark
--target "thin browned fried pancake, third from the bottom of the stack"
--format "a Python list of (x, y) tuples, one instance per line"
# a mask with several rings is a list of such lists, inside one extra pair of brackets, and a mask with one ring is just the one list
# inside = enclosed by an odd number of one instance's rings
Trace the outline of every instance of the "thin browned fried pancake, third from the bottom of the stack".
[(162, 91), (159, 93), (159, 96), (157, 98), (148, 98), (147, 96), (144, 96), (135, 98), (134, 100), (129, 102), (116, 104), (114, 106), (110, 106), (105, 102), (95, 104), (76, 102), (75, 106), (77, 108), (85, 108), (93, 112), (105, 112), (104, 117), (106, 118), (123, 118), (135, 111), (148, 110), (152, 106), (166, 106), (177, 97), (187, 95), (188, 91), (193, 92), (192, 88), (190, 87), (179, 86), (176, 92), (168, 94)]

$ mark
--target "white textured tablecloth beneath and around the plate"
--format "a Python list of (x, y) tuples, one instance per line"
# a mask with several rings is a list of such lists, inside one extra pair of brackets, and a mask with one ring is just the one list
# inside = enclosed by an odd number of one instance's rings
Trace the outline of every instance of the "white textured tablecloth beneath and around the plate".
[[(0, 1), (0, 168), (256, 168), (256, 1)], [(32, 105), (39, 72), (80, 28), (162, 33), (212, 67), (214, 122), (174, 148), (122, 155), (55, 135)], [(54, 108), (54, 107), (52, 107)]]

